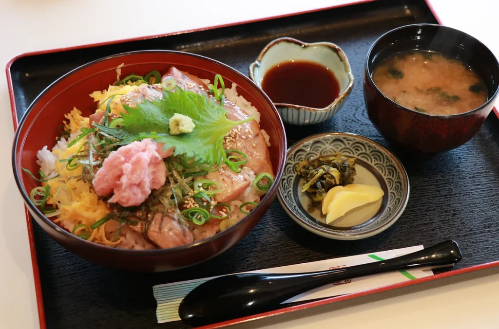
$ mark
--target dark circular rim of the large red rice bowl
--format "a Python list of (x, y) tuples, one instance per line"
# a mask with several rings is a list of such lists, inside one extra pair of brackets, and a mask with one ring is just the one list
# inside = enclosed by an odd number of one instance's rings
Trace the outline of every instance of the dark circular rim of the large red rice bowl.
[[(16, 131), (15, 131), (13, 145), (12, 145), (12, 169), (13, 169), (13, 173), (14, 173), (15, 182), (17, 184), (17, 187), (18, 187), (19, 191), (21, 192), (21, 195), (22, 195), (23, 199), (24, 199), (24, 204), (30, 209), (30, 211), (34, 212), (36, 214), (36, 216), (38, 216), (43, 221), (45, 221), (50, 226), (50, 229), (55, 230), (56, 232), (59, 232), (59, 233), (65, 235), (69, 239), (72, 239), (80, 247), (93, 248), (93, 249), (96, 249), (96, 250), (102, 250), (103, 249), (103, 250), (106, 250), (106, 251), (111, 252), (111, 253), (125, 254), (125, 255), (134, 255), (134, 256), (146, 256), (146, 255), (149, 255), (149, 256), (160, 256), (160, 255), (167, 256), (167, 255), (170, 255), (170, 254), (175, 254), (175, 253), (177, 253), (179, 251), (186, 251), (186, 250), (195, 249), (195, 248), (198, 248), (198, 247), (202, 247), (204, 245), (211, 244), (211, 243), (213, 243), (213, 241), (219, 240), (219, 239), (223, 238), (224, 236), (229, 235), (232, 232), (236, 231), (237, 227), (239, 227), (242, 224), (243, 221), (247, 220), (247, 218), (250, 215), (246, 215), (240, 221), (238, 221), (236, 224), (232, 225), (228, 229), (225, 229), (224, 231), (221, 231), (221, 232), (215, 234), (214, 236), (212, 236), (210, 238), (203, 239), (203, 240), (200, 240), (198, 242), (194, 242), (194, 243), (183, 245), (183, 246), (178, 246), (178, 247), (173, 247), (173, 248), (147, 249), (147, 250), (121, 249), (121, 248), (109, 247), (109, 246), (101, 245), (101, 244), (98, 244), (98, 243), (95, 243), (95, 242), (91, 242), (91, 241), (87, 241), (87, 240), (78, 238), (74, 234), (72, 234), (72, 233), (68, 232), (67, 230), (59, 227), (53, 221), (51, 221), (49, 218), (47, 218), (31, 202), (31, 200), (30, 200), (27, 192), (25, 191), (25, 189), (24, 189), (24, 187), (23, 187), (23, 185), (21, 183), (19, 174), (17, 173), (17, 170), (16, 170), (16, 167), (17, 167), (16, 150), (19, 147), (19, 135), (20, 135), (20, 132), (21, 132), (21, 128), (25, 124), (27, 116), (32, 111), (32, 109), (34, 108), (34, 106), (40, 101), (40, 99), (50, 89), (52, 89), (55, 85), (57, 85), (58, 83), (60, 83), (66, 77), (68, 77), (68, 76), (70, 76), (70, 75), (72, 75), (72, 74), (76, 73), (77, 71), (80, 71), (80, 70), (82, 70), (84, 68), (92, 66), (92, 65), (94, 65), (96, 63), (103, 62), (103, 61), (110, 60), (110, 59), (114, 59), (114, 58), (125, 57), (125, 56), (129, 56), (129, 55), (135, 55), (135, 54), (141, 54), (141, 53), (170, 53), (170, 54), (178, 54), (178, 55), (185, 55), (185, 56), (197, 57), (197, 58), (202, 59), (202, 60), (207, 60), (207, 61), (210, 61), (210, 62), (215, 63), (217, 65), (223, 66), (224, 68), (232, 71), (233, 73), (235, 73), (236, 75), (238, 75), (240, 78), (242, 78), (242, 79), (246, 80), (247, 82), (249, 82), (250, 85), (252, 87), (254, 87), (254, 89), (257, 92), (261, 93), (261, 95), (263, 96), (263, 98), (271, 105), (271, 108), (272, 108), (275, 116), (278, 118), (277, 122), (278, 122), (278, 124), (279, 124), (278, 126), (280, 128), (280, 134), (278, 134), (278, 135), (280, 135), (280, 137), (282, 138), (282, 141), (283, 141), (281, 147), (279, 148), (280, 149), (279, 153), (282, 154), (283, 157), (282, 157), (281, 162), (277, 164), (277, 170), (275, 172), (274, 183), (272, 184), (272, 186), (270, 186), (270, 189), (263, 196), (263, 198), (260, 200), (260, 202), (255, 207), (255, 209), (258, 208), (258, 207), (261, 207), (262, 204), (264, 204), (266, 201), (268, 201), (268, 199), (271, 198), (272, 194), (275, 195), (275, 193), (277, 191), (277, 187), (278, 187), (278, 182), (280, 181), (280, 179), (282, 177), (283, 166), (284, 166), (284, 163), (286, 161), (286, 146), (287, 146), (287, 140), (286, 140), (286, 136), (285, 136), (284, 124), (282, 122), (282, 119), (281, 119), (279, 113), (277, 112), (277, 109), (275, 108), (275, 105), (272, 103), (272, 101), (270, 100), (270, 98), (268, 98), (268, 96), (252, 80), (250, 80), (248, 77), (246, 77), (244, 74), (242, 74), (238, 70), (234, 69), (233, 67), (231, 67), (231, 66), (229, 66), (227, 64), (224, 64), (222, 62), (219, 62), (219, 61), (217, 61), (215, 59), (206, 57), (206, 56), (202, 56), (202, 55), (198, 55), (198, 54), (193, 54), (193, 53), (189, 53), (189, 52), (176, 51), (176, 50), (162, 50), (162, 49), (135, 50), (135, 51), (122, 52), (122, 53), (117, 53), (117, 54), (109, 55), (109, 56), (106, 56), (106, 57), (102, 57), (102, 58), (90, 61), (90, 62), (88, 62), (86, 64), (81, 65), (81, 66), (78, 66), (78, 67), (72, 69), (71, 71), (67, 72), (66, 74), (62, 75), (61, 77), (59, 77), (55, 81), (53, 81), (40, 94), (38, 94), (36, 96), (36, 98), (28, 106), (28, 109), (26, 110), (26, 112), (22, 115), (22, 118), (19, 120), (19, 124), (17, 126)], [(279, 167), (280, 167), (280, 170), (279, 170)], [(32, 215), (32, 214), (30, 213), (30, 215)], [(214, 255), (211, 255), (210, 257), (213, 257), (213, 256)], [(208, 257), (208, 258), (210, 258), (210, 257)]]

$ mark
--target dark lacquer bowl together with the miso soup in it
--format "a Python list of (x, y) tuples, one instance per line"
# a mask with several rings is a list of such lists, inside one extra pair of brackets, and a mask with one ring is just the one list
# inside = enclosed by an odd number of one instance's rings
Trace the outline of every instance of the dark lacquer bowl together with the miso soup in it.
[(482, 42), (434, 24), (396, 28), (368, 51), (364, 100), (386, 140), (435, 154), (468, 142), (492, 111), (499, 64)]

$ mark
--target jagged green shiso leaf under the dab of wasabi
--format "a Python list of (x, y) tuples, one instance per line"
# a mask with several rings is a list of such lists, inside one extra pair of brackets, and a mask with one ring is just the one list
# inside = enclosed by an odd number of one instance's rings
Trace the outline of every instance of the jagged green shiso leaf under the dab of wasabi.
[[(136, 108), (124, 106), (127, 113), (122, 113), (122, 126), (110, 128), (94, 124), (102, 132), (121, 142), (130, 144), (146, 138), (164, 143), (164, 149), (175, 147), (174, 156), (185, 155), (194, 158), (198, 164), (213, 165), (224, 161), (224, 137), (234, 126), (253, 118), (232, 121), (227, 118), (227, 111), (213, 97), (205, 94), (176, 88), (175, 92), (163, 90), (162, 99), (149, 101), (144, 99)], [(190, 117), (196, 125), (193, 132), (182, 135), (169, 134), (170, 118), (175, 113)]]

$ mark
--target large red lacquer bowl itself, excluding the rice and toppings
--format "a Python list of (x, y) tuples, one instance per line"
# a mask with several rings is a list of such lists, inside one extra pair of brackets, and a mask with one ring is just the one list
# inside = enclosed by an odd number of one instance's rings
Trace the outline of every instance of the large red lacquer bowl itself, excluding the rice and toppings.
[(286, 154), (286, 139), (282, 121), (270, 99), (253, 83), (235, 69), (213, 59), (199, 55), (164, 50), (136, 51), (118, 54), (83, 65), (59, 78), (45, 89), (30, 105), (15, 133), (12, 165), (17, 186), (27, 208), (38, 224), (54, 240), (76, 255), (104, 266), (132, 271), (160, 272), (180, 269), (208, 260), (232, 247), (244, 238), (262, 218), (275, 197), (274, 183), (248, 216), (229, 229), (197, 243), (158, 250), (123, 250), (102, 246), (80, 239), (46, 218), (29, 200), (29, 192), (38, 186), (21, 167), (38, 172), (36, 153), (43, 146), (51, 148), (59, 135), (58, 127), (73, 107), (88, 116), (96, 105), (88, 95), (95, 90), (107, 89), (116, 80), (116, 67), (125, 63), (122, 76), (130, 73), (145, 75), (149, 71), (166, 72), (171, 66), (203, 79), (213, 81), (221, 74), (238, 85), (238, 92), (255, 106), (260, 114), (260, 125), (270, 136), (270, 157), (279, 181)]

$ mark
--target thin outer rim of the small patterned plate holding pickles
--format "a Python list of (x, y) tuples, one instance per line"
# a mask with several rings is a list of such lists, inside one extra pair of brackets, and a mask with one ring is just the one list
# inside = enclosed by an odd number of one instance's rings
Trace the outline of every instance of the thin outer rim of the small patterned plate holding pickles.
[[(346, 232), (348, 232), (348, 230), (345, 231), (345, 234), (337, 234), (337, 233), (321, 230), (319, 227), (316, 227), (314, 225), (310, 225), (309, 223), (304, 221), (301, 218), (301, 216), (299, 216), (298, 214), (294, 213), (291, 209), (289, 209), (287, 204), (285, 202), (283, 202), (283, 197), (281, 195), (281, 187), (280, 187), (281, 182), (279, 182), (279, 188), (277, 189), (277, 198), (279, 199), (279, 203), (281, 204), (282, 208), (284, 208), (286, 213), (291, 217), (291, 219), (293, 219), (297, 224), (299, 224), (301, 227), (305, 228), (307, 231), (314, 233), (314, 234), (317, 234), (319, 236), (325, 237), (325, 238), (334, 239), (334, 240), (360, 240), (360, 239), (369, 238), (371, 236), (374, 236), (376, 234), (379, 234), (379, 233), (385, 231), (390, 226), (392, 226), (400, 218), (400, 216), (402, 216), (402, 214), (404, 213), (404, 210), (407, 206), (407, 203), (409, 202), (409, 195), (410, 195), (411, 189), (410, 189), (409, 176), (407, 174), (407, 171), (406, 171), (404, 165), (402, 165), (402, 162), (392, 152), (387, 150), (384, 146), (382, 146), (381, 144), (377, 143), (376, 141), (374, 141), (368, 137), (358, 135), (358, 134), (346, 133), (346, 132), (320, 133), (320, 134), (308, 136), (308, 137), (294, 143), (292, 146), (290, 146), (286, 152), (286, 160), (287, 160), (287, 155), (288, 155), (289, 151), (293, 150), (294, 148), (298, 147), (299, 145), (303, 145), (310, 140), (315, 140), (317, 138), (327, 137), (327, 136), (331, 136), (331, 135), (354, 137), (354, 138), (364, 140), (367, 143), (374, 144), (374, 145), (376, 145), (376, 147), (380, 148), (383, 152), (385, 152), (394, 161), (394, 163), (397, 165), (397, 167), (399, 168), (399, 170), (402, 174), (403, 186), (404, 187), (407, 186), (407, 193), (404, 197), (404, 201), (398, 207), (395, 215), (389, 221), (387, 221), (383, 226), (381, 226), (377, 229), (367, 230), (366, 232), (361, 233), (361, 234), (351, 234), (351, 233), (348, 234), (348, 233), (346, 233)], [(281, 179), (281, 181), (282, 181), (282, 179)], [(293, 200), (294, 200), (294, 202), (298, 202), (294, 198), (293, 198)]]

